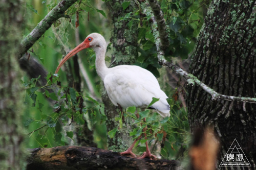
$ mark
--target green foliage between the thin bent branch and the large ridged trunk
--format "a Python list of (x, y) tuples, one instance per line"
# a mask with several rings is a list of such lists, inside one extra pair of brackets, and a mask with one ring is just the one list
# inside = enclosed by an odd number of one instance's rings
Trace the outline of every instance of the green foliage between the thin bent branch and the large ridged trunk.
[(205, 1), (161, 2), (167, 25), (169, 26), (170, 48), (166, 55), (186, 59), (193, 51), (196, 37), (203, 25)]

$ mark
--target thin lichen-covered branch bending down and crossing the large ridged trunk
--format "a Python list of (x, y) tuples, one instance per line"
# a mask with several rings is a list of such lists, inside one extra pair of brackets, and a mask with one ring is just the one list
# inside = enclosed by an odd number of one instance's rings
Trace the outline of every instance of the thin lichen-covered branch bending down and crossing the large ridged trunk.
[[(151, 5), (151, 8), (153, 11), (154, 10), (161, 11), (160, 6), (156, 5), (156, 3), (158, 4), (158, 2), (155, 2), (155, 0), (149, 0), (148, 2)], [(146, 8), (147, 7), (145, 6), (144, 10), (147, 11), (146, 14), (150, 15), (151, 12), (148, 12), (148, 9), (146, 9)], [(159, 8), (159, 9), (156, 10), (156, 8)], [(202, 89), (204, 89), (207, 93), (209, 93), (211, 95), (212, 100), (227, 100), (227, 101), (237, 101), (237, 102), (246, 102), (246, 103), (256, 103), (256, 98), (245, 98), (245, 97), (220, 94), (220, 93), (216, 92), (214, 89), (208, 87), (206, 84), (202, 83), (194, 75), (188, 74), (186, 71), (184, 71), (177, 65), (166, 61), (164, 58), (164, 51), (162, 50), (162, 47), (161, 47), (162, 44), (160, 43), (160, 42), (165, 41), (163, 36), (161, 36), (160, 34), (163, 34), (161, 32), (166, 33), (166, 27), (165, 27), (165, 30), (160, 31), (160, 29), (159, 29), (160, 27), (163, 28), (162, 26), (160, 26), (161, 24), (163, 24), (163, 23), (165, 24), (165, 22), (162, 21), (162, 20), (164, 20), (164, 18), (163, 18), (162, 12), (154, 12), (154, 15), (155, 15), (155, 17), (152, 16), (151, 19), (153, 20), (153, 34), (155, 37), (155, 43), (156, 43), (157, 52), (158, 52), (157, 57), (158, 57), (158, 61), (159, 61), (160, 65), (163, 65), (163, 66), (168, 67), (169, 69), (172, 69), (178, 75), (185, 78), (187, 83), (200, 86)], [(157, 19), (155, 19), (155, 18), (157, 18)], [(159, 24), (160, 21), (161, 21), (161, 24)], [(157, 25), (157, 27), (155, 27), (156, 25)], [(159, 39), (160, 39), (160, 41), (159, 41)]]

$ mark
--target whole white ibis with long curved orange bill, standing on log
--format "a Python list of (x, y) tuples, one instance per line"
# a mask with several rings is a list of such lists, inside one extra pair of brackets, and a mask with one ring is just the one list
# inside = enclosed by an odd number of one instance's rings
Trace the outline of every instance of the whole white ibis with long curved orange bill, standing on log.
[[(57, 74), (60, 67), (69, 58), (84, 48), (89, 47), (93, 48), (96, 54), (95, 65), (97, 74), (104, 82), (106, 92), (115, 106), (119, 105), (122, 108), (135, 106), (137, 108), (145, 109), (152, 102), (153, 98), (157, 98), (159, 101), (154, 103), (151, 106), (151, 109), (155, 109), (163, 117), (170, 115), (170, 106), (166, 101), (168, 97), (160, 89), (156, 77), (150, 71), (135, 65), (118, 65), (112, 68), (106, 66), (106, 41), (98, 33), (88, 35), (82, 43), (63, 58), (59, 63), (55, 74)], [(121, 154), (132, 154), (135, 156), (132, 153), (133, 145)], [(144, 157), (154, 157), (148, 149), (147, 143), (146, 152), (143, 153), (140, 158)]]

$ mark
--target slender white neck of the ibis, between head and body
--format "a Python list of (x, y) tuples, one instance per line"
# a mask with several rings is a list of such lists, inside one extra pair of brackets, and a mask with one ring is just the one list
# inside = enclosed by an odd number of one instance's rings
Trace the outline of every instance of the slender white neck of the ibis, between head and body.
[(105, 53), (106, 53), (106, 47), (102, 46), (97, 48), (95, 50), (95, 55), (96, 55), (96, 60), (95, 60), (95, 66), (96, 66), (96, 71), (99, 77), (104, 80), (107, 72), (108, 72), (108, 67), (106, 67), (105, 64)]

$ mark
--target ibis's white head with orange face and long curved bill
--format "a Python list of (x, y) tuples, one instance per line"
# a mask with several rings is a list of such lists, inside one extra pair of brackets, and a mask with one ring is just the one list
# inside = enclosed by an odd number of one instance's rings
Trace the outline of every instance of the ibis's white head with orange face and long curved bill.
[(98, 33), (92, 33), (90, 35), (88, 35), (86, 37), (86, 39), (80, 43), (79, 45), (77, 45), (77, 47), (75, 47), (66, 57), (64, 57), (61, 62), (59, 63), (55, 74), (58, 73), (60, 67), (72, 56), (74, 56), (76, 53), (80, 52), (81, 50), (85, 49), (85, 48), (93, 48), (93, 50), (96, 52), (98, 51), (99, 48), (106, 48), (106, 41), (104, 39), (104, 37), (102, 37), (102, 35), (98, 34)]

